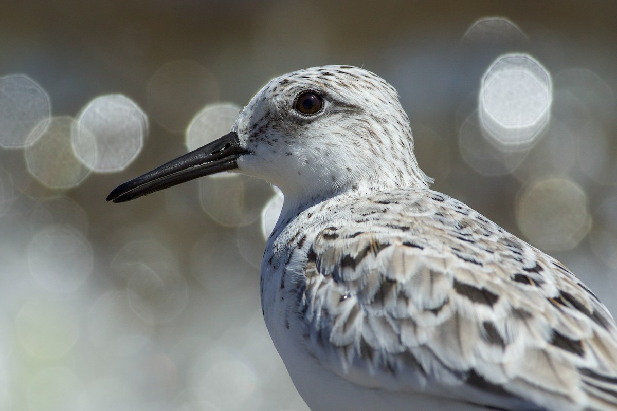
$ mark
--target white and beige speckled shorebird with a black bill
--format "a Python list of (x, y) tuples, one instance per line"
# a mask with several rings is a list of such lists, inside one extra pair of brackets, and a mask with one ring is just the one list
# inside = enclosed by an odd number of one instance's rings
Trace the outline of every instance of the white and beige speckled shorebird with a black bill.
[(107, 201), (220, 171), (281, 189), (262, 312), (313, 411), (617, 410), (608, 309), (557, 259), (431, 190), (413, 147), (391, 84), (307, 68)]

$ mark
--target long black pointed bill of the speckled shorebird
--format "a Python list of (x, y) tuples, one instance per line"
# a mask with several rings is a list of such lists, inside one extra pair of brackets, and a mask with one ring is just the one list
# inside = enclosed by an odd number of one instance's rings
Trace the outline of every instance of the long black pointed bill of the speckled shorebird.
[(247, 153), (240, 147), (238, 134), (232, 131), (218, 140), (176, 158), (122, 185), (118, 185), (107, 201), (122, 203), (173, 185), (209, 174), (238, 168), (238, 157)]

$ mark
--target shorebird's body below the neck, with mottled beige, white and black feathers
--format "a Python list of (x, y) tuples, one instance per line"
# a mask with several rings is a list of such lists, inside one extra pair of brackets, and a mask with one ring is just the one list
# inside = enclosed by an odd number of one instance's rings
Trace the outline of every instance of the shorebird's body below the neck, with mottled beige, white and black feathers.
[(334, 378), (362, 396), (423, 393), (453, 409), (617, 409), (607, 309), (560, 262), (460, 201), (401, 188), (294, 215), (268, 243), (262, 306), (309, 405), (326, 396), (316, 379)]

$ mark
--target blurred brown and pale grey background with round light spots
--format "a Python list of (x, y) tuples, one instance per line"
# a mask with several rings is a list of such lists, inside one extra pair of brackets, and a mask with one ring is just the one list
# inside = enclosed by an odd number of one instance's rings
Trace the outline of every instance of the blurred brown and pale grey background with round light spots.
[(617, 313), (617, 2), (21, 1), (0, 12), (0, 409), (307, 410), (259, 264), (280, 197), (116, 185), (228, 132), (274, 76), (400, 92), (434, 189)]

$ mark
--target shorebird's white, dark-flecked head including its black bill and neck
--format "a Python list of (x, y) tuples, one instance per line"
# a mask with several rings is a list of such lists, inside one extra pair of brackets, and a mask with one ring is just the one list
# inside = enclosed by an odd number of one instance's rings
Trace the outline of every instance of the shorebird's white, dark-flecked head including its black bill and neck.
[(220, 171), (265, 179), (297, 199), (429, 182), (394, 87), (362, 68), (329, 65), (273, 79), (229, 134), (120, 185), (107, 200)]

